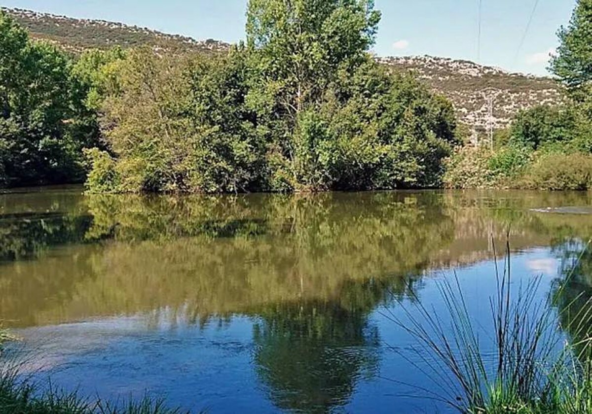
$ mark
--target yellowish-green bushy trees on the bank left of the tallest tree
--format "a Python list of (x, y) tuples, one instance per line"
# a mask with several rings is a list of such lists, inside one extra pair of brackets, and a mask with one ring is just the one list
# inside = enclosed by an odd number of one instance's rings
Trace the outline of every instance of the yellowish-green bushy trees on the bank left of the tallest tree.
[(115, 154), (88, 151), (93, 192), (243, 192), (262, 188), (265, 146), (244, 105), (244, 51), (226, 57), (131, 51), (105, 98)]

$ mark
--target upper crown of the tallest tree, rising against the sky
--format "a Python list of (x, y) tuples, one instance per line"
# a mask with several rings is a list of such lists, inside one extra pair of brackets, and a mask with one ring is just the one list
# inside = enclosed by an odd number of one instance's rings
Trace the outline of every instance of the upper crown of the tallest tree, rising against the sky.
[(256, 91), (277, 99), (295, 122), (340, 67), (363, 62), (379, 20), (373, 0), (250, 0), (246, 34), (259, 72)]

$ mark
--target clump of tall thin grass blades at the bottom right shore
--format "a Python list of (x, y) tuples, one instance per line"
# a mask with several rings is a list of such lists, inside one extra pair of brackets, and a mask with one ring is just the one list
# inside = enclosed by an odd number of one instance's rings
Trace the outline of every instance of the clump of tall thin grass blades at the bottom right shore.
[[(558, 309), (558, 295), (538, 299), (540, 278), (512, 289), (509, 252), (507, 245), (504, 269), (496, 269), (488, 332), (471, 318), (456, 277), (439, 286), (449, 320), (420, 300), (403, 318), (387, 310), (385, 316), (416, 339), (413, 352), (421, 363), (403, 356), (432, 379), (434, 387), (422, 388), (427, 397), (460, 413), (592, 413), (590, 337), (583, 326), (570, 326), (581, 335), (565, 341), (557, 321), (570, 306)], [(574, 321), (590, 319), (591, 309), (581, 308)]]

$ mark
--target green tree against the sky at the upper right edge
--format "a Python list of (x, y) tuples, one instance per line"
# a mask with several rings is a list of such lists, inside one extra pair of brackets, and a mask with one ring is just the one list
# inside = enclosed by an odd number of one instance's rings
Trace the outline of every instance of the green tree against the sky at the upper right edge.
[(585, 99), (592, 86), (592, 0), (578, 0), (570, 24), (558, 36), (561, 44), (550, 69), (577, 100)]

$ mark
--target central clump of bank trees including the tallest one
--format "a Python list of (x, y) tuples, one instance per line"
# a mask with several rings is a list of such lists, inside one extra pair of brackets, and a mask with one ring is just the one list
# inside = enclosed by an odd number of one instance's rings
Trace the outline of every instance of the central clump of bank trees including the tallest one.
[(88, 151), (89, 189), (439, 185), (452, 106), (372, 59), (378, 21), (368, 0), (252, 0), (227, 56), (131, 52), (103, 88), (109, 152)]

